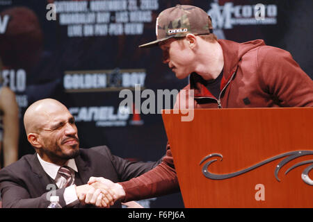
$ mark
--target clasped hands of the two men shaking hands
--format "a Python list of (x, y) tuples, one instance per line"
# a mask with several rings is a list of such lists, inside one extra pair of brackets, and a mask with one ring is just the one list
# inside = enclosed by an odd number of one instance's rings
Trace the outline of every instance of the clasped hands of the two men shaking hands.
[[(75, 189), (77, 198), (82, 204), (92, 204), (97, 207), (109, 208), (116, 200), (125, 197), (125, 191), (121, 185), (105, 178), (91, 177), (88, 184), (77, 186)], [(125, 203), (125, 205), (141, 207), (140, 205), (136, 206), (133, 201)]]

